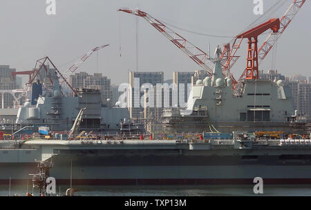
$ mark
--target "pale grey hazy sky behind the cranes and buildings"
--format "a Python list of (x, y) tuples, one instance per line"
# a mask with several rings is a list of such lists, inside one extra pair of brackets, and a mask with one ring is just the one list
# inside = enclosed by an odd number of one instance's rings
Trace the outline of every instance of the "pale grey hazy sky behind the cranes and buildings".
[[(277, 1), (263, 0), (264, 11)], [(291, 2), (286, 1), (273, 17), (281, 17)], [(10, 65), (17, 71), (31, 70), (37, 59), (49, 56), (64, 72), (91, 48), (110, 44), (98, 53), (98, 71), (97, 55), (93, 54), (77, 72), (102, 72), (112, 83), (122, 83), (128, 81), (129, 70), (135, 71), (135, 17), (117, 12), (118, 8), (140, 8), (180, 28), (220, 36), (234, 36), (258, 18), (253, 13), (252, 0), (56, 0), (56, 3), (57, 14), (48, 16), (45, 0), (1, 0), (0, 65)], [(286, 76), (311, 76), (310, 20), (307, 1), (278, 41), (276, 68)], [(177, 29), (176, 32), (205, 51), (209, 42), (214, 52), (216, 45), (230, 41)], [(265, 36), (260, 36), (260, 43)], [(242, 58), (232, 68), (236, 78), (245, 69), (245, 50), (239, 50)], [(271, 57), (272, 52), (261, 70), (270, 69)], [(139, 19), (138, 60), (140, 71), (162, 71), (166, 79), (175, 71), (198, 70), (196, 63), (142, 18)]]

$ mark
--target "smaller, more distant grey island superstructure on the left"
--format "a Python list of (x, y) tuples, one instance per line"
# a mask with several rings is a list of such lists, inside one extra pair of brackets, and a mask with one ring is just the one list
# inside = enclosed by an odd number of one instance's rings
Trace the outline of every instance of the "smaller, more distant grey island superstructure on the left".
[[(144, 132), (142, 125), (132, 122), (127, 108), (103, 107), (100, 90), (79, 88), (75, 96), (64, 96), (56, 72), (50, 74), (53, 78), (52, 92), (39, 94), (35, 105), (26, 101), (25, 105), (19, 108), (16, 120), (19, 127), (45, 126), (53, 132), (68, 132), (79, 110), (85, 107), (80, 129), (86, 132), (101, 134)], [(37, 129), (34, 129), (34, 132), (36, 131)]]

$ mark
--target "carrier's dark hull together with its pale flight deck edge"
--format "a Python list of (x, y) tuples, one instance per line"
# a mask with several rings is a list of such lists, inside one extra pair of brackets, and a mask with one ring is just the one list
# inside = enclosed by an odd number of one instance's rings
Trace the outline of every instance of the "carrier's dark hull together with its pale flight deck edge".
[[(225, 141), (234, 145), (222, 145)], [(37, 172), (33, 160), (53, 153), (44, 160), (53, 162), (50, 176), (64, 185), (70, 183), (70, 177), (74, 185), (235, 185), (253, 184), (256, 177), (266, 184), (311, 184), (311, 145), (238, 149), (241, 145), (232, 140), (211, 144), (173, 140), (95, 142), (30, 141), (29, 145), (40, 143), (41, 149), (6, 154), (12, 161), (1, 162), (0, 183), (8, 184), (9, 178), (12, 185), (26, 183), (29, 174)]]

